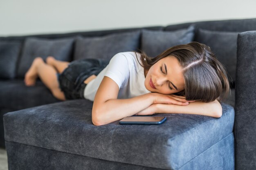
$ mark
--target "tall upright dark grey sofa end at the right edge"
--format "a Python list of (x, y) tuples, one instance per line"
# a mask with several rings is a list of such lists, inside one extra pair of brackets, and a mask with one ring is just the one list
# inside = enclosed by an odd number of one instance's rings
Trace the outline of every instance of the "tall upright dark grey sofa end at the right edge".
[(256, 169), (256, 31), (238, 34), (236, 75), (236, 169)]

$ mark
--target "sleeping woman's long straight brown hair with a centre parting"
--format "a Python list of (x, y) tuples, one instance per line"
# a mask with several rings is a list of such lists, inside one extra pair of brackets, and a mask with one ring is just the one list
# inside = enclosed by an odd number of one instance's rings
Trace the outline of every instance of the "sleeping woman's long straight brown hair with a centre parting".
[(183, 67), (185, 86), (175, 95), (185, 96), (186, 100), (212, 102), (217, 99), (221, 102), (230, 94), (227, 71), (205, 44), (190, 42), (173, 46), (154, 58), (148, 57), (144, 51), (140, 54), (140, 65), (146, 70), (164, 57), (176, 57)]

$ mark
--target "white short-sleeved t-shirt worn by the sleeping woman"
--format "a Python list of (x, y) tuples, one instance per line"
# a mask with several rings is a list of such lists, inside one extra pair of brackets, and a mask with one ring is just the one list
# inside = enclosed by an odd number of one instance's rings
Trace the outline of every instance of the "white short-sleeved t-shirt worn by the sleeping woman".
[[(140, 60), (139, 53), (137, 53), (137, 56), (138, 60)], [(144, 68), (139, 64), (138, 60), (135, 52), (123, 52), (114, 55), (97, 77), (85, 86), (84, 98), (94, 101), (104, 76), (110, 77), (119, 86), (117, 99), (128, 99), (150, 93), (144, 85)]]

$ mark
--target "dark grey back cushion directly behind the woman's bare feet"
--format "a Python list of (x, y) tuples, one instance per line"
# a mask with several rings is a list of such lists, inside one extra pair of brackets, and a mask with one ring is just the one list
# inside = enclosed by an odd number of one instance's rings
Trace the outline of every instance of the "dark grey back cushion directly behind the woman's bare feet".
[(74, 38), (27, 38), (18, 64), (18, 77), (23, 78), (36, 57), (54, 56), (57, 60), (70, 61)]

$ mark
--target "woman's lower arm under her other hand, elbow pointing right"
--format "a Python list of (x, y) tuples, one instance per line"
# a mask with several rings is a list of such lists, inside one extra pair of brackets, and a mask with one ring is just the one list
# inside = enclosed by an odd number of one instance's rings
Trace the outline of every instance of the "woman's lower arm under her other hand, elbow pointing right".
[(136, 115), (153, 115), (155, 113), (185, 113), (221, 117), (222, 107), (217, 100), (209, 103), (196, 101), (191, 102), (186, 106), (179, 106), (175, 104), (153, 104), (148, 108), (141, 110), (141, 112)]

